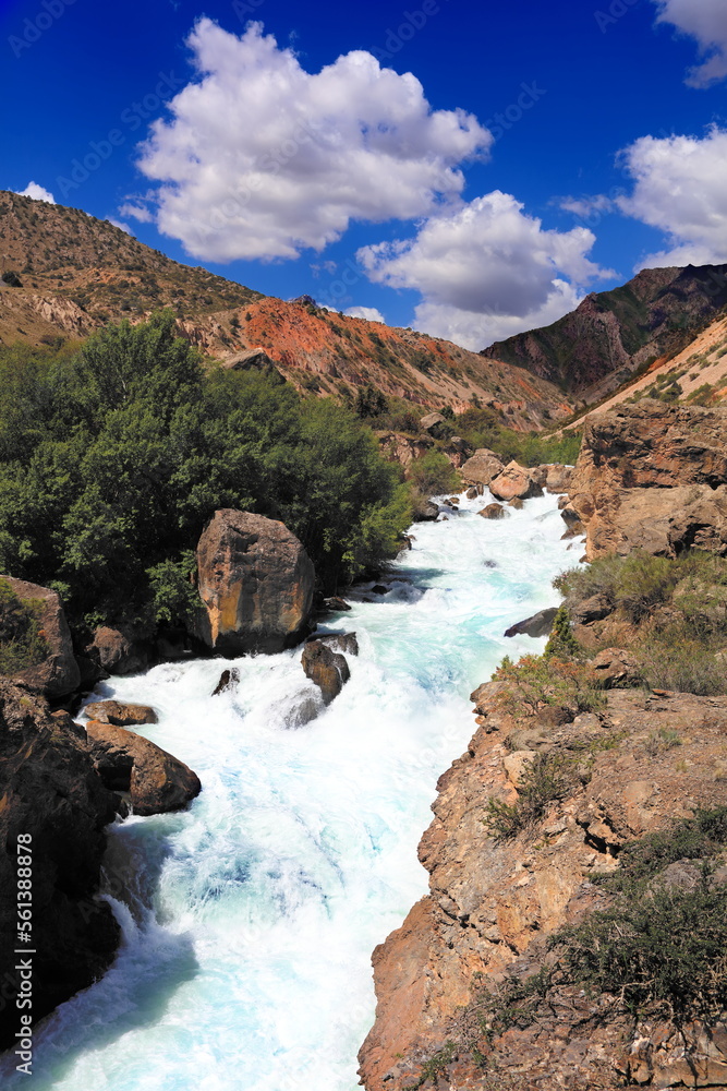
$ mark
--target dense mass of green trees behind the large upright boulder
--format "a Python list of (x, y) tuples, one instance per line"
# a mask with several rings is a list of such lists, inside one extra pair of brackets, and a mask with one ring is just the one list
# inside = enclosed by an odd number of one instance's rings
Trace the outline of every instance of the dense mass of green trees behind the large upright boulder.
[(170, 312), (80, 352), (0, 351), (0, 567), (62, 583), (74, 627), (179, 614), (173, 563), (220, 507), (284, 521), (330, 592), (396, 553), (399, 485), (349, 409), (204, 372)]

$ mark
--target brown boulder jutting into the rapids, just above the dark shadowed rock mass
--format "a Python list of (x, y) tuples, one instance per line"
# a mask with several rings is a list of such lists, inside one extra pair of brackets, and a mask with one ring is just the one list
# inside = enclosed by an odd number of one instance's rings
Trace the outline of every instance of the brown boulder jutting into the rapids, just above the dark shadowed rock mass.
[(179, 758), (125, 728), (86, 723), (94, 766), (107, 788), (130, 792), (134, 814), (179, 811), (199, 794), (199, 778)]

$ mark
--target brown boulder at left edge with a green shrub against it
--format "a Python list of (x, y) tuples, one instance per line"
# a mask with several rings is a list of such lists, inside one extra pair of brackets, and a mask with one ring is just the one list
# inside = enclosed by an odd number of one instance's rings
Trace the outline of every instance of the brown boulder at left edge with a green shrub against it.
[(14, 625), (10, 614), (20, 610), (31, 616), (41, 642), (38, 654), (28, 657), (27, 666), (12, 670), (12, 676), (37, 686), (47, 697), (64, 697), (73, 693), (81, 683), (81, 671), (73, 657), (71, 631), (60, 596), (49, 587), (28, 584), (12, 576), (1, 576), (0, 583), (4, 585), (0, 606), (0, 626), (3, 631), (0, 639), (12, 639)]

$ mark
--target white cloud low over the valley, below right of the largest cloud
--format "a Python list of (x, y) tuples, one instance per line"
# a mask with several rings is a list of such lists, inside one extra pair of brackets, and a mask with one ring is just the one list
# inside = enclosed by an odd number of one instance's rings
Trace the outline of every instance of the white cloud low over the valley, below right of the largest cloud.
[(520, 333), (572, 310), (589, 281), (611, 276), (586, 256), (583, 227), (544, 230), (509, 193), (495, 190), (426, 220), (408, 241), (364, 247), (368, 277), (422, 293), (416, 324), (467, 348)]

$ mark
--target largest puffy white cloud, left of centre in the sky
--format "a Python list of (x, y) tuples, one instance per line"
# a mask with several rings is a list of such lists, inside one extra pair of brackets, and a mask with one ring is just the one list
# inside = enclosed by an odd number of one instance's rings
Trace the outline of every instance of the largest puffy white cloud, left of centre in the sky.
[(159, 229), (197, 257), (295, 257), (352, 219), (426, 215), (493, 142), (363, 50), (312, 74), (259, 24), (237, 37), (209, 19), (189, 45), (199, 79), (167, 104), (173, 117), (155, 122), (140, 167), (162, 183)]

